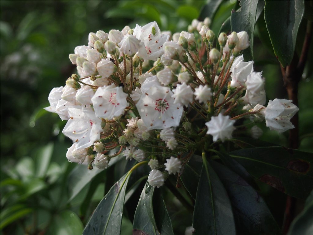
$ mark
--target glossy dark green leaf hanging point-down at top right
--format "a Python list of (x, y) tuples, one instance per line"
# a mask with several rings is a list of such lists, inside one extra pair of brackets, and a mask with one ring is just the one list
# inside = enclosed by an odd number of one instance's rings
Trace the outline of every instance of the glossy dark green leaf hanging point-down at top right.
[(290, 65), (298, 29), (304, 13), (304, 1), (265, 0), (264, 18), (276, 58), (283, 67)]

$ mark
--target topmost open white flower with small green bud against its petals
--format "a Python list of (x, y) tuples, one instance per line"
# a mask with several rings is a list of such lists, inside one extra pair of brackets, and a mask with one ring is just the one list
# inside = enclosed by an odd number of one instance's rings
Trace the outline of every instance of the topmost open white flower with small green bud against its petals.
[(142, 47), (137, 55), (144, 60), (156, 61), (163, 54), (163, 44), (168, 41), (169, 35), (161, 34), (156, 22), (151, 22), (144, 26), (136, 24), (133, 35), (141, 40), (145, 47)]

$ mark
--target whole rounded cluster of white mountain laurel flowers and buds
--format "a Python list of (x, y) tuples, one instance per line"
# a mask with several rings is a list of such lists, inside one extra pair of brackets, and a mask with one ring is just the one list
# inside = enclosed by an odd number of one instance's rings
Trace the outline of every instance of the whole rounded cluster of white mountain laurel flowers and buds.
[[(156, 22), (134, 29), (90, 33), (69, 60), (77, 67), (49, 94), (49, 112), (67, 120), (70, 162), (105, 169), (110, 160), (148, 164), (148, 183), (160, 187), (183, 174), (193, 153), (239, 134), (259, 138), (264, 120), (284, 132), (298, 108), (290, 100), (266, 105), (265, 79), (245, 61), (246, 32), (221, 33), (210, 20), (192, 21), (188, 32), (162, 32)], [(240, 121), (239, 121), (240, 120)]]

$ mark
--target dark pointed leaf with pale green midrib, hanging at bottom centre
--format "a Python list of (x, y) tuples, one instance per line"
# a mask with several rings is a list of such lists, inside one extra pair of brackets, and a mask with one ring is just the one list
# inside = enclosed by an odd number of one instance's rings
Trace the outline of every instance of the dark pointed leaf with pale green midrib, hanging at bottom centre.
[(227, 192), (206, 159), (198, 184), (192, 226), (196, 235), (236, 234)]

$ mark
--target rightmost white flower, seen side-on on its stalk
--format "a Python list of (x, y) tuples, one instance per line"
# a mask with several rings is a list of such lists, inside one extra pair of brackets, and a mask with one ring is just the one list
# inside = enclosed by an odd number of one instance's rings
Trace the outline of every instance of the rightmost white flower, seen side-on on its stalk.
[(290, 119), (298, 112), (299, 108), (291, 103), (291, 100), (275, 99), (270, 100), (265, 109), (266, 126), (270, 130), (279, 133), (295, 128)]

